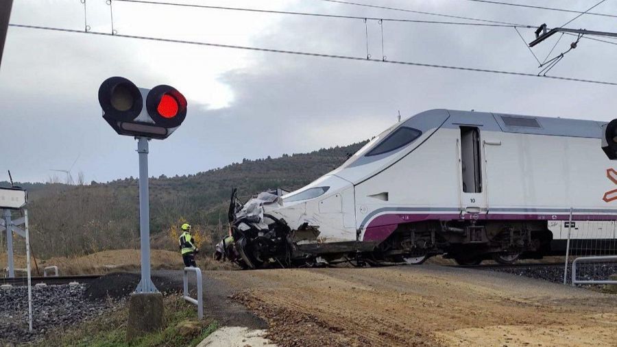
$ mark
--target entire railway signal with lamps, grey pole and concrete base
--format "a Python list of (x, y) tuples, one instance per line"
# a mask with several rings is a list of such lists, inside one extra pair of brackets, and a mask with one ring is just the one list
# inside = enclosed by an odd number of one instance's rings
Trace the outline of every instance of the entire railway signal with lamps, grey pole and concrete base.
[(99, 87), (99, 104), (114, 131), (137, 140), (141, 281), (130, 300), (127, 338), (131, 340), (160, 329), (163, 322), (162, 295), (150, 277), (148, 142), (164, 140), (180, 127), (186, 117), (186, 99), (171, 86), (150, 90), (137, 88), (124, 77), (110, 77)]

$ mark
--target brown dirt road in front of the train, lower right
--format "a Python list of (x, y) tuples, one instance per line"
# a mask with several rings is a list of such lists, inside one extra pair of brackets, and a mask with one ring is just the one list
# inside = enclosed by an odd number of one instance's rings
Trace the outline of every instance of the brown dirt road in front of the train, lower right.
[(430, 265), (204, 274), (267, 320), (280, 346), (617, 346), (617, 296), (510, 274)]

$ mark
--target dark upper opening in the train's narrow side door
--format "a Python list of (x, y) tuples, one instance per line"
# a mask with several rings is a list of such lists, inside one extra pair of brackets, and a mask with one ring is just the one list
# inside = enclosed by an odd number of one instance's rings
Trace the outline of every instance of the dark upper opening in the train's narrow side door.
[(461, 127), (461, 170), (463, 192), (482, 192), (480, 131), (476, 127)]

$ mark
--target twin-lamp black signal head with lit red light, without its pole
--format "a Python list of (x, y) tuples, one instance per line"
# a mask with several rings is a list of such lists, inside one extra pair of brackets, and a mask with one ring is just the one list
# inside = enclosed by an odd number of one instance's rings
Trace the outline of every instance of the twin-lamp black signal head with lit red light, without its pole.
[[(144, 101), (145, 100), (145, 106)], [(165, 139), (186, 118), (186, 98), (176, 88), (137, 88), (124, 77), (110, 77), (99, 87), (103, 118), (119, 135)]]

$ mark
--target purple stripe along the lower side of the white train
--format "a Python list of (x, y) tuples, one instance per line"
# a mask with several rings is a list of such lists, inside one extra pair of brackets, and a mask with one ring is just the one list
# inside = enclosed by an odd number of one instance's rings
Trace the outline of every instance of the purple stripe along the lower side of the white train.
[[(371, 220), (363, 241), (381, 242), (398, 224), (422, 220), (570, 220), (570, 214), (382, 214)], [(615, 214), (572, 214), (572, 220), (617, 220)]]

